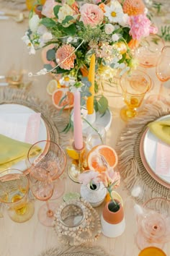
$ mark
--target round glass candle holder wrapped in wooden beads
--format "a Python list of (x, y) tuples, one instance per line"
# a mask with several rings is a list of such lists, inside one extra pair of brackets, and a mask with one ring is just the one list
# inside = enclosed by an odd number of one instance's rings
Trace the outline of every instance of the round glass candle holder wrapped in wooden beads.
[(63, 202), (55, 213), (54, 230), (61, 242), (94, 242), (101, 234), (99, 215), (84, 199)]

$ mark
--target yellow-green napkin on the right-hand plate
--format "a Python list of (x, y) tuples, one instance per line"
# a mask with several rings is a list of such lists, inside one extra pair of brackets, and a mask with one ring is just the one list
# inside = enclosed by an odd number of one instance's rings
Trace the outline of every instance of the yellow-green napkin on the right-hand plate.
[(170, 119), (153, 121), (148, 127), (153, 135), (170, 145)]

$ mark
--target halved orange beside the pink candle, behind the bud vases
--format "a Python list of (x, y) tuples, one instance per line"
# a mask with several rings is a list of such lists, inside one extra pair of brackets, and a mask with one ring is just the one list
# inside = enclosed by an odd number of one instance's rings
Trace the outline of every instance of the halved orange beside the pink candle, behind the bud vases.
[(114, 168), (117, 165), (117, 153), (107, 145), (97, 145), (87, 155), (87, 163), (90, 170), (106, 171), (107, 168)]

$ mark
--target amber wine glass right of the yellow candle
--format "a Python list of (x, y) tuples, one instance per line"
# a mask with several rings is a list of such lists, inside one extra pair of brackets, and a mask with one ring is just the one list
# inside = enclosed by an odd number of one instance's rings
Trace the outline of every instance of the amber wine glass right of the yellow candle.
[(137, 108), (140, 107), (148, 90), (151, 88), (151, 78), (145, 72), (133, 70), (125, 73), (120, 78), (122, 96), (126, 105), (120, 111), (122, 120), (133, 119), (137, 114)]

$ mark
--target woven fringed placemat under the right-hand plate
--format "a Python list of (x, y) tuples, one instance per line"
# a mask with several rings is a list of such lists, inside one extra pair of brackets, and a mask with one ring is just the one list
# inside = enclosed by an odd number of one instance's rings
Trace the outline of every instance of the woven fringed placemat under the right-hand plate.
[(120, 174), (130, 193), (135, 187), (140, 188), (140, 194), (135, 197), (139, 203), (151, 197), (170, 199), (170, 189), (159, 184), (148, 174), (140, 158), (140, 140), (147, 124), (167, 114), (170, 114), (169, 106), (160, 101), (146, 105), (140, 111), (140, 115), (122, 130), (117, 140), (116, 150)]

